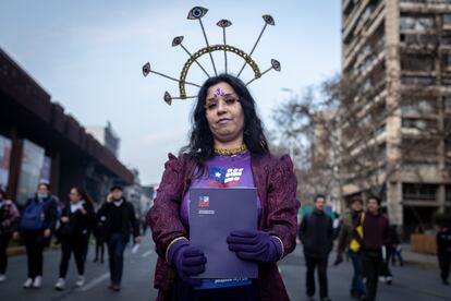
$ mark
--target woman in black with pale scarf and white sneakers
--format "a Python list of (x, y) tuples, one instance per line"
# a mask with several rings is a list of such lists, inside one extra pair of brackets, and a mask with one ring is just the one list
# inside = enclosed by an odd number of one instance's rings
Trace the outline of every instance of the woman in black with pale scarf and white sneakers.
[(95, 224), (94, 205), (89, 195), (82, 188), (72, 188), (69, 193), (70, 204), (64, 207), (61, 214), (61, 226), (58, 230), (61, 241), (60, 277), (54, 289), (62, 290), (65, 287), (69, 260), (74, 253), (78, 279), (76, 287), (85, 282), (85, 255), (88, 248), (89, 231)]

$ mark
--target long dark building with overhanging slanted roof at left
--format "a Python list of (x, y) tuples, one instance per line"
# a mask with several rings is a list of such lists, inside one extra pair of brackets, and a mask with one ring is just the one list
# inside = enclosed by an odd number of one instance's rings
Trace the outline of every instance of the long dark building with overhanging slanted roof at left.
[(0, 49), (0, 185), (20, 206), (39, 182), (68, 200), (74, 185), (100, 203), (134, 174)]

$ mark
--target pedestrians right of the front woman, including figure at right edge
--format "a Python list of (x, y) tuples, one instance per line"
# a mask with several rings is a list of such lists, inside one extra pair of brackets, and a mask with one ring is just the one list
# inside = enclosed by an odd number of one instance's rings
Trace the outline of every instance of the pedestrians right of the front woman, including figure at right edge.
[[(350, 294), (356, 300), (376, 300), (378, 282), (391, 285), (393, 280), (390, 264), (403, 266), (401, 241), (397, 226), (389, 226), (381, 210), (381, 200), (371, 195), (367, 198), (366, 209), (361, 197), (351, 201), (349, 210), (340, 217), (339, 230), (333, 231), (332, 217), (326, 214), (325, 195), (314, 200), (314, 210), (302, 218), (298, 237), (303, 244), (306, 264), (306, 294), (315, 300), (315, 270), (318, 274), (319, 297), (327, 301), (329, 254), (337, 239), (334, 266), (351, 261), (353, 277)], [(437, 233), (437, 254), (443, 285), (449, 285), (451, 258), (451, 229), (442, 225)]]

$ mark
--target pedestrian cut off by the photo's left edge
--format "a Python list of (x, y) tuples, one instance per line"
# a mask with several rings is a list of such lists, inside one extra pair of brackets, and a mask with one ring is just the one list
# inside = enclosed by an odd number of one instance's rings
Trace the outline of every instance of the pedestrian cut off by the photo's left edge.
[(0, 282), (7, 280), (8, 244), (17, 228), (19, 210), (7, 192), (0, 188)]

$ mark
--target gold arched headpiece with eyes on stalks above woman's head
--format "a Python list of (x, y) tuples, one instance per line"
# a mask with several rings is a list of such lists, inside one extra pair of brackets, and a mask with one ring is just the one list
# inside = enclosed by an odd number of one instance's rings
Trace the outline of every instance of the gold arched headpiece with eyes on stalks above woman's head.
[(246, 86), (249, 85), (255, 80), (260, 79), (264, 74), (266, 74), (267, 72), (269, 72), (272, 69), (280, 72), (280, 62), (278, 60), (272, 59), (271, 60), (271, 67), (261, 72), (260, 69), (258, 68), (257, 63), (252, 59), (252, 55), (254, 53), (255, 48), (257, 47), (258, 43), (260, 41), (260, 38), (261, 38), (266, 27), (268, 25), (272, 25), (272, 26), (276, 25), (275, 20), (272, 19), (272, 16), (270, 16), (269, 14), (263, 15), (263, 20), (265, 21), (265, 25), (264, 25), (260, 34), (258, 35), (257, 40), (255, 41), (251, 52), (246, 53), (243, 50), (227, 44), (226, 28), (231, 26), (232, 22), (230, 22), (229, 20), (226, 20), (226, 19), (222, 19), (222, 20), (218, 21), (218, 23), (216, 23), (216, 25), (218, 25), (220, 28), (222, 28), (223, 44), (217, 44), (217, 45), (210, 45), (209, 44), (208, 38), (207, 38), (207, 34), (206, 34), (205, 28), (204, 28), (204, 23), (202, 22), (202, 19), (207, 14), (207, 12), (208, 12), (208, 9), (205, 9), (205, 8), (202, 8), (202, 7), (195, 7), (195, 8), (191, 9), (191, 11), (187, 15), (188, 20), (197, 20), (199, 22), (200, 29), (204, 34), (205, 44), (207, 45), (206, 47), (200, 48), (196, 52), (192, 53), (183, 45), (183, 36), (178, 36), (178, 37), (174, 37), (172, 39), (172, 47), (180, 46), (188, 55), (188, 59), (185, 62), (185, 64), (183, 65), (182, 72), (180, 73), (180, 79), (175, 79), (173, 76), (169, 76), (169, 75), (166, 75), (161, 72), (155, 71), (150, 67), (149, 62), (147, 62), (146, 64), (143, 65), (143, 75), (144, 76), (147, 76), (149, 73), (154, 73), (154, 74), (160, 75), (162, 77), (166, 77), (168, 80), (171, 80), (171, 81), (174, 81), (174, 82), (179, 83), (179, 93), (180, 93), (179, 97), (172, 97), (171, 94), (169, 94), (169, 92), (164, 92), (163, 99), (168, 105), (171, 105), (173, 99), (187, 99), (187, 98), (196, 98), (197, 97), (197, 96), (186, 96), (185, 85), (192, 85), (192, 86), (200, 87), (200, 85), (198, 85), (198, 84), (187, 82), (186, 76), (187, 76), (187, 73), (190, 71), (191, 65), (193, 63), (196, 63), (208, 77), (211, 77), (210, 74), (207, 72), (207, 70), (198, 61), (198, 58), (200, 58), (202, 56), (204, 56), (206, 53), (208, 53), (208, 56), (210, 57), (211, 65), (212, 65), (212, 69), (215, 71), (215, 76), (218, 76), (218, 71), (217, 71), (217, 68), (216, 68), (216, 64), (215, 64), (214, 57), (211, 55), (212, 52), (215, 52), (215, 51), (223, 51), (224, 52), (224, 72), (226, 73), (228, 73), (228, 60), (227, 60), (228, 52), (233, 52), (236, 56), (241, 57), (244, 60), (244, 63), (243, 63), (243, 67), (240, 69), (240, 72), (237, 73), (236, 77), (240, 77), (240, 75), (243, 72), (246, 64), (248, 64), (252, 68), (253, 72), (254, 72), (254, 77), (246, 83)]

